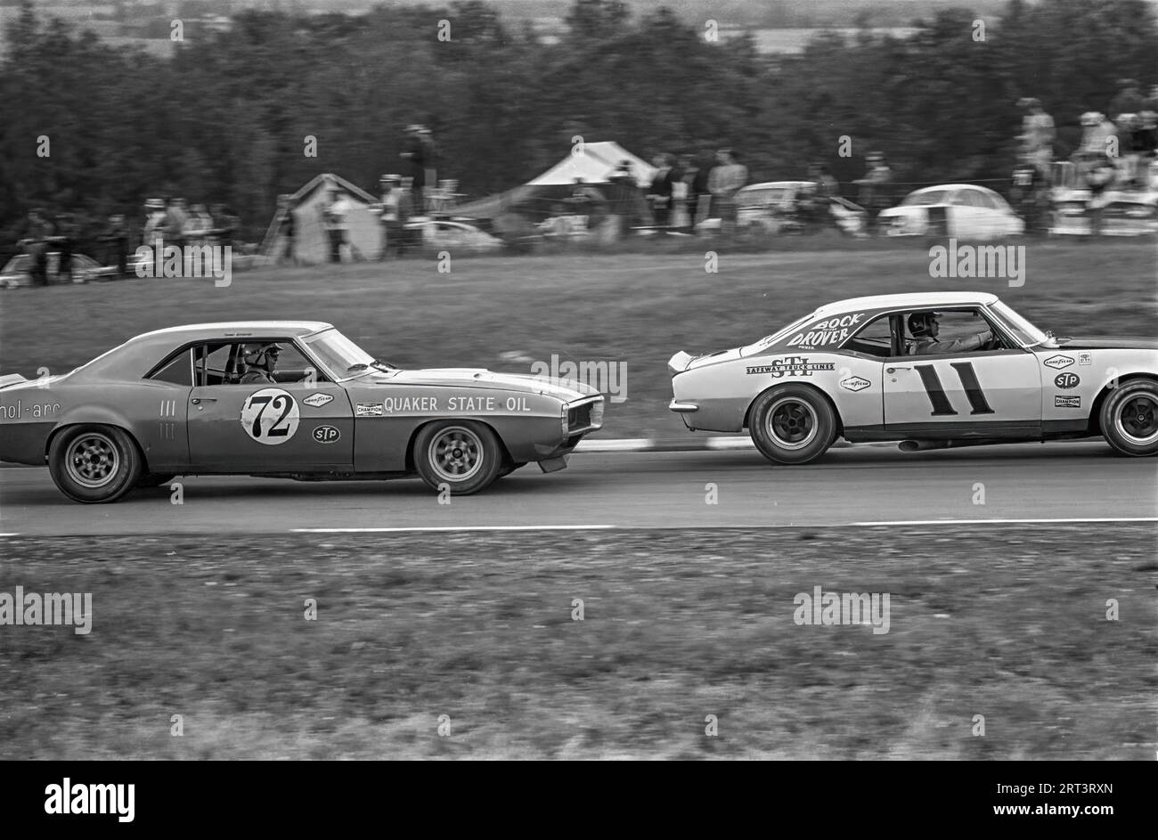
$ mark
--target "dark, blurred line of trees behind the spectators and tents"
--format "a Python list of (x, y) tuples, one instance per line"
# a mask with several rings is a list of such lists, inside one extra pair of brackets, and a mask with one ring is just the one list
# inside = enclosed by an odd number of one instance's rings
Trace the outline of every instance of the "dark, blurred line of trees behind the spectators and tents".
[(35, 206), (98, 225), (182, 196), (228, 205), (256, 240), (278, 193), (318, 173), (373, 191), (398, 171), (410, 123), (432, 129), (439, 177), (471, 196), (523, 183), (576, 137), (648, 159), (727, 146), (753, 181), (819, 161), (846, 183), (874, 149), (900, 182), (1002, 178), (1019, 97), (1042, 101), (1064, 155), (1080, 114), (1106, 110), (1121, 78), (1158, 83), (1144, 0), (1010, 0), (981, 19), (980, 39), (977, 20), (946, 9), (913, 21), (909, 38), (828, 35), (769, 57), (667, 8), (573, 0), (567, 31), (545, 43), (482, 0), (455, 0), (247, 10), (160, 58), (24, 0), (0, 64), (0, 233), (10, 243)]

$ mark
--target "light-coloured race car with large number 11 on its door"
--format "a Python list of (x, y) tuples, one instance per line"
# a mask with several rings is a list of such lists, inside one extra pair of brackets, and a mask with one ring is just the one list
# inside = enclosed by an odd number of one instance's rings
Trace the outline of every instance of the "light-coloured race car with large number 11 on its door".
[(668, 371), (688, 429), (748, 430), (774, 463), (838, 437), (915, 451), (1101, 436), (1158, 452), (1158, 339), (1056, 337), (980, 292), (837, 301), (747, 346), (677, 352)]

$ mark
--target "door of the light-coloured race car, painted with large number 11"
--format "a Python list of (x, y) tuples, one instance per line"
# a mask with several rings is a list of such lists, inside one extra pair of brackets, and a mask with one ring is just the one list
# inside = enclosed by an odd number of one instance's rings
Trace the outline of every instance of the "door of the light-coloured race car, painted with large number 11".
[[(975, 313), (941, 339), (987, 329)], [(954, 335), (959, 334), (959, 335)], [(1041, 373), (1024, 349), (903, 356), (884, 363), (885, 428), (900, 433), (1019, 437), (1041, 428)]]

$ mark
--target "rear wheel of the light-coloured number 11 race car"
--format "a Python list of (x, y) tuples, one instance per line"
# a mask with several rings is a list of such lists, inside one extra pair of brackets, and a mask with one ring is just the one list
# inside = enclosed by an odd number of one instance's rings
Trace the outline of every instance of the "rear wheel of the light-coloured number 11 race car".
[(782, 385), (752, 406), (748, 433), (772, 463), (808, 463), (836, 438), (836, 412), (824, 396), (801, 385)]

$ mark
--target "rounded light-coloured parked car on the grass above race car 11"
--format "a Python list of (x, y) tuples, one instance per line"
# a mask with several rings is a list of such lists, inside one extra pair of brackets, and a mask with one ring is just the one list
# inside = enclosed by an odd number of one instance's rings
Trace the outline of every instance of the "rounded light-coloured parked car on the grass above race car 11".
[(943, 184), (910, 192), (877, 217), (889, 236), (957, 236), (985, 240), (1017, 236), (1025, 221), (1004, 198), (984, 187)]

